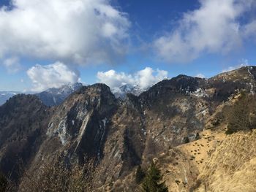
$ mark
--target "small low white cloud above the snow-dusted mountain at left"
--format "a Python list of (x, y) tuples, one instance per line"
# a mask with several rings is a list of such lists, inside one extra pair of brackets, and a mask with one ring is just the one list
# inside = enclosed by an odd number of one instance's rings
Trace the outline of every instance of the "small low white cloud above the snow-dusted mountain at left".
[(42, 66), (32, 66), (27, 74), (33, 82), (31, 91), (45, 91), (48, 88), (59, 88), (69, 82), (78, 82), (79, 74), (61, 62)]

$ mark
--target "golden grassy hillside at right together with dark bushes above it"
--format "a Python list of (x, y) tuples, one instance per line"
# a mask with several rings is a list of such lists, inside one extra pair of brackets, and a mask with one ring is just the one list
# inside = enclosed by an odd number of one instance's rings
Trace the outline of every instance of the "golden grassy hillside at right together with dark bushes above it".
[(238, 94), (209, 118), (200, 139), (158, 155), (169, 191), (255, 191), (255, 101)]

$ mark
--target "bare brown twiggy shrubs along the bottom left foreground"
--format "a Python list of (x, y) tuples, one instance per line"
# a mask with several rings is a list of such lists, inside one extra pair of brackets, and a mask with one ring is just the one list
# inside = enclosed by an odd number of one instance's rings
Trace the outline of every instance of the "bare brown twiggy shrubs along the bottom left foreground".
[(25, 172), (18, 191), (91, 191), (94, 161), (86, 164), (65, 164), (64, 161), (44, 161), (37, 175)]

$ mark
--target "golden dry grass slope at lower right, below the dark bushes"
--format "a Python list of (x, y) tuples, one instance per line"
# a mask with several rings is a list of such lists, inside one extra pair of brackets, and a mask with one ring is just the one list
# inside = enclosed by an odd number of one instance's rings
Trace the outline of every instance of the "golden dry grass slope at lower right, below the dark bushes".
[(228, 136), (223, 129), (206, 130), (200, 135), (202, 139), (159, 155), (169, 191), (255, 191), (256, 130)]

